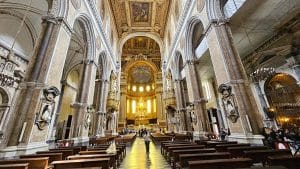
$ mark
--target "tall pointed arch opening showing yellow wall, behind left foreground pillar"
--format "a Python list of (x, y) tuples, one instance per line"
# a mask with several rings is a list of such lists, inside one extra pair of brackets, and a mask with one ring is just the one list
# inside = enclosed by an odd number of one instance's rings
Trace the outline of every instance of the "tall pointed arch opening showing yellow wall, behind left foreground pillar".
[[(72, 133), (72, 126), (78, 123), (78, 103), (82, 103), (83, 97), (83, 82), (84, 70), (89, 46), (87, 44), (88, 35), (85, 29), (86, 25), (82, 18), (75, 21), (71, 36), (67, 57), (65, 60), (62, 82), (62, 94), (59, 101), (56, 124), (56, 135), (59, 139), (69, 139), (74, 137)], [(78, 125), (79, 126), (79, 125)], [(73, 127), (76, 128), (76, 127)], [(78, 128), (78, 127), (77, 127)], [(73, 129), (74, 132), (74, 129)], [(76, 135), (79, 132), (76, 131)]]

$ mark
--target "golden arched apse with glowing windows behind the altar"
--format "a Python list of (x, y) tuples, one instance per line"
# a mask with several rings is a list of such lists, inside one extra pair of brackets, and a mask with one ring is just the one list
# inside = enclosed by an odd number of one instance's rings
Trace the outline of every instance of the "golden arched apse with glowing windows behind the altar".
[(121, 98), (126, 99), (121, 100), (126, 103), (121, 103), (119, 121), (134, 129), (164, 128), (159, 45), (151, 38), (137, 36), (129, 39), (122, 51)]

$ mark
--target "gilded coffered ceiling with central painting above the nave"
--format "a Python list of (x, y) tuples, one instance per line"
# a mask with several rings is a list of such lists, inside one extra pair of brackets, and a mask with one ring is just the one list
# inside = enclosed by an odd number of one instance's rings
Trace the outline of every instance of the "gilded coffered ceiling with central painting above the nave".
[(170, 0), (110, 0), (118, 34), (154, 32), (164, 36)]

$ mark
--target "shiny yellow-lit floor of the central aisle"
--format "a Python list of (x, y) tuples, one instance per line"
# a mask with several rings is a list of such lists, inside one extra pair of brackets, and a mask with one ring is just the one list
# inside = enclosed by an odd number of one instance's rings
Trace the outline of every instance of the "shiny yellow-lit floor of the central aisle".
[(160, 153), (160, 146), (153, 142), (150, 142), (148, 154), (144, 140), (138, 137), (132, 146), (127, 147), (126, 151), (126, 157), (120, 166), (121, 169), (171, 169)]

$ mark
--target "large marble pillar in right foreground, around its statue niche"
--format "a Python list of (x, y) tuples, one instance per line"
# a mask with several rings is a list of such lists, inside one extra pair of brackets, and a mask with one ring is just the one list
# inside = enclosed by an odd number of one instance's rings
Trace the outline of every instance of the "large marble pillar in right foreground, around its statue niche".
[(237, 102), (240, 117), (235, 123), (229, 121), (232, 136), (248, 139), (248, 136), (259, 134), (263, 118), (252, 95), (241, 58), (233, 45), (230, 27), (225, 20), (213, 22), (206, 36), (217, 84), (231, 86)]

